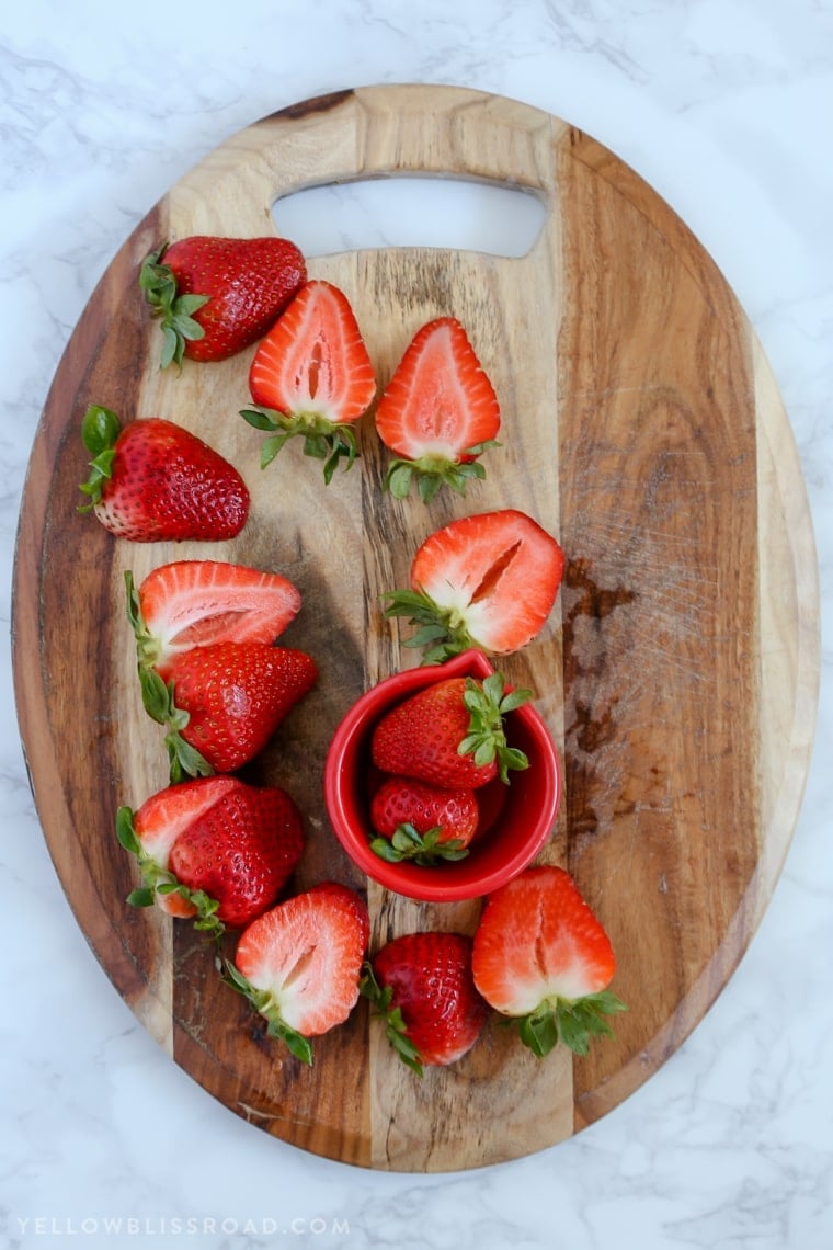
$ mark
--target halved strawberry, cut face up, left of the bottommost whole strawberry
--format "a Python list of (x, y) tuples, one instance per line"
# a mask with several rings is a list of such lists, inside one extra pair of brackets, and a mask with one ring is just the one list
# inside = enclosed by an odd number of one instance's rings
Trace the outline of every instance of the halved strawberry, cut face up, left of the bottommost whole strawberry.
[(269, 1021), (270, 1036), (311, 1064), (310, 1038), (343, 1024), (358, 1001), (368, 938), (363, 900), (337, 881), (323, 881), (244, 930), (226, 980)]

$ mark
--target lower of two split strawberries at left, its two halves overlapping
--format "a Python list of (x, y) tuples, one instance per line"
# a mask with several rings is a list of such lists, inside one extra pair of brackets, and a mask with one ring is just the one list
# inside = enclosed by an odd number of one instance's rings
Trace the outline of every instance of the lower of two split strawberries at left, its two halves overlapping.
[(197, 778), (120, 808), (116, 831), (139, 860), (135, 906), (156, 902), (220, 936), (271, 906), (303, 850), (301, 814), (278, 786), (237, 778)]

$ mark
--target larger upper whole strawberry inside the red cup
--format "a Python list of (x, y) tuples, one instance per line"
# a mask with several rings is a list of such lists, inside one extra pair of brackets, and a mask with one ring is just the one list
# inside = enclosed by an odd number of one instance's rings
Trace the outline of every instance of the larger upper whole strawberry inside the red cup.
[(503, 718), (532, 698), (506, 691), (493, 672), (483, 681), (445, 678), (396, 704), (371, 736), (373, 764), (382, 772), (416, 778), (446, 789), (476, 790), (528, 760), (507, 744)]

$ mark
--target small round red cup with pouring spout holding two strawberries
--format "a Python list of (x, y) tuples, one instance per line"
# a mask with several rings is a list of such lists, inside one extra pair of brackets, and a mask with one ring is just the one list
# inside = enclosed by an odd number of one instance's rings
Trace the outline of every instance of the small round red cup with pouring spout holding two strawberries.
[(353, 862), (380, 885), (410, 899), (452, 902), (477, 899), (517, 876), (550, 838), (561, 799), (561, 768), (541, 714), (531, 705), (506, 715), (510, 746), (530, 766), (478, 790), (481, 822), (466, 859), (426, 868), (388, 864), (370, 849), (375, 836), (370, 801), (380, 775), (371, 762), (371, 736), (380, 718), (410, 695), (446, 678), (482, 680), (495, 671), (482, 651), (465, 651), (443, 664), (407, 669), (368, 690), (338, 725), (325, 768), (325, 801), (333, 831)]

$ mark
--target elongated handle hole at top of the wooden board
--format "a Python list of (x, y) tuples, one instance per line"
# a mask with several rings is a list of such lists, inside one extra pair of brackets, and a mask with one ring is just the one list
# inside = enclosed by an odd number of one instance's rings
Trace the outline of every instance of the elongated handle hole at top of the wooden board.
[(446, 248), (526, 256), (546, 205), (497, 182), (437, 175), (308, 186), (272, 204), (277, 232), (306, 256), (375, 248)]

